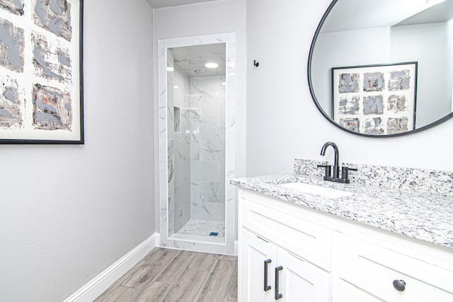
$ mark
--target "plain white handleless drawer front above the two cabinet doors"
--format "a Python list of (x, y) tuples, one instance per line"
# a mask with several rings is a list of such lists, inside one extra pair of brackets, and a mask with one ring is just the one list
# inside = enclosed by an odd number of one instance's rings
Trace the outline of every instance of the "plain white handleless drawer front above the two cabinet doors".
[(243, 227), (304, 260), (331, 271), (331, 230), (295, 216), (299, 213), (295, 205), (284, 204), (269, 197), (241, 194), (240, 207)]

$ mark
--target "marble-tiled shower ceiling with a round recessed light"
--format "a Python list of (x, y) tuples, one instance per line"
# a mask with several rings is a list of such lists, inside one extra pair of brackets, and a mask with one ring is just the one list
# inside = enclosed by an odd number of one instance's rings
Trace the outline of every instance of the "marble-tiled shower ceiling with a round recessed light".
[[(226, 44), (203, 44), (168, 48), (173, 52), (173, 62), (189, 77), (224, 76), (226, 72)], [(219, 64), (215, 69), (206, 68), (207, 62)]]

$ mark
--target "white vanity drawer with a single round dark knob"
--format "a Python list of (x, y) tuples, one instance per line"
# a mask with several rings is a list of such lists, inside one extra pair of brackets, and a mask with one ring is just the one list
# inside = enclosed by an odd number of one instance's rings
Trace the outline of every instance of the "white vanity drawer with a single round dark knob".
[(384, 301), (453, 301), (453, 272), (350, 236), (338, 242), (338, 275), (362, 291)]

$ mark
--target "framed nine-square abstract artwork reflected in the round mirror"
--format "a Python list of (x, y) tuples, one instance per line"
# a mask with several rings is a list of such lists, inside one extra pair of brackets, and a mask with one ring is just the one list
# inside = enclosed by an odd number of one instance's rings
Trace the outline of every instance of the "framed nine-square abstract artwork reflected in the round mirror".
[(353, 132), (399, 134), (415, 127), (417, 62), (332, 68), (333, 120)]

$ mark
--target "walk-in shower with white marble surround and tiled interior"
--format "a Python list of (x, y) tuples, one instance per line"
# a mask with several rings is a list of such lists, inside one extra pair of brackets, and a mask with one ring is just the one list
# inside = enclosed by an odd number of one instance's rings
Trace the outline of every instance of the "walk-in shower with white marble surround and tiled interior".
[(234, 34), (159, 41), (161, 245), (234, 254)]

